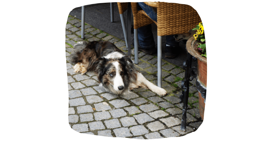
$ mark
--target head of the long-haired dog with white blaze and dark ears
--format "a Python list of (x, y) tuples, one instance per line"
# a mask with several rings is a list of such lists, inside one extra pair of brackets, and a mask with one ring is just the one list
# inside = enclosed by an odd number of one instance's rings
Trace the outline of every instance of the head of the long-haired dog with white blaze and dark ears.
[(122, 58), (106, 59), (101, 57), (97, 61), (96, 72), (98, 80), (104, 88), (119, 95), (128, 90), (130, 66), (128, 62), (132, 63), (128, 56)]

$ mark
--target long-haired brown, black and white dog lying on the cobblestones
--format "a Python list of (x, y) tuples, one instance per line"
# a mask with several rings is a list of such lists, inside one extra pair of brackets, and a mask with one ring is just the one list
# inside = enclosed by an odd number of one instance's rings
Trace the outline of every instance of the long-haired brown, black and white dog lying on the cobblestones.
[(100, 85), (116, 95), (139, 87), (150, 89), (158, 95), (167, 94), (165, 89), (154, 85), (135, 70), (130, 57), (108, 41), (78, 42), (74, 45), (70, 62), (74, 64), (75, 73), (94, 71)]

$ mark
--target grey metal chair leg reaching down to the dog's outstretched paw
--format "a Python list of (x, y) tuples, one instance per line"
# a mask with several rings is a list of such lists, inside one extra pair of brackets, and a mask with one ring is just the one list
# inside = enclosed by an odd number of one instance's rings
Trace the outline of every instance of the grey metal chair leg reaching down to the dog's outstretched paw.
[(157, 86), (160, 88), (162, 84), (161, 57), (162, 57), (162, 37), (157, 36)]

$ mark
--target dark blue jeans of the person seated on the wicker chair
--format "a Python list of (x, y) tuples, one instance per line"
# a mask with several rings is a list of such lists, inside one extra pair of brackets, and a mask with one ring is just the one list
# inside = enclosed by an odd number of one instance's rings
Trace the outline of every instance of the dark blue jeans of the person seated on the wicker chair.
[[(142, 9), (152, 20), (157, 22), (157, 13), (154, 11), (153, 7), (146, 5), (144, 2), (138, 2), (138, 10)], [(174, 35), (166, 35), (166, 45), (179, 45), (179, 42), (176, 42), (173, 36)], [(151, 24), (138, 28), (138, 42), (143, 49), (150, 49), (154, 47), (155, 43)]]

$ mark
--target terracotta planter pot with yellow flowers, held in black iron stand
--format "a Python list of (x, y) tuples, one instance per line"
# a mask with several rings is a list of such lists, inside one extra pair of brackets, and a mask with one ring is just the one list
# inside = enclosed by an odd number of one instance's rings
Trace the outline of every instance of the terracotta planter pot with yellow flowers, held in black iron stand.
[[(194, 39), (194, 37), (191, 37), (187, 43), (186, 48), (187, 51), (197, 58), (197, 70), (198, 75), (196, 78), (196, 84), (199, 82), (201, 84), (201, 87), (207, 89), (207, 58), (200, 56), (194, 49), (193, 46), (197, 41)], [(204, 111), (205, 111), (205, 99), (202, 97), (202, 94), (204, 95), (204, 92), (201, 92), (201, 90), (198, 89), (198, 96), (199, 96), (199, 113), (201, 115), (202, 120), (204, 119)]]

